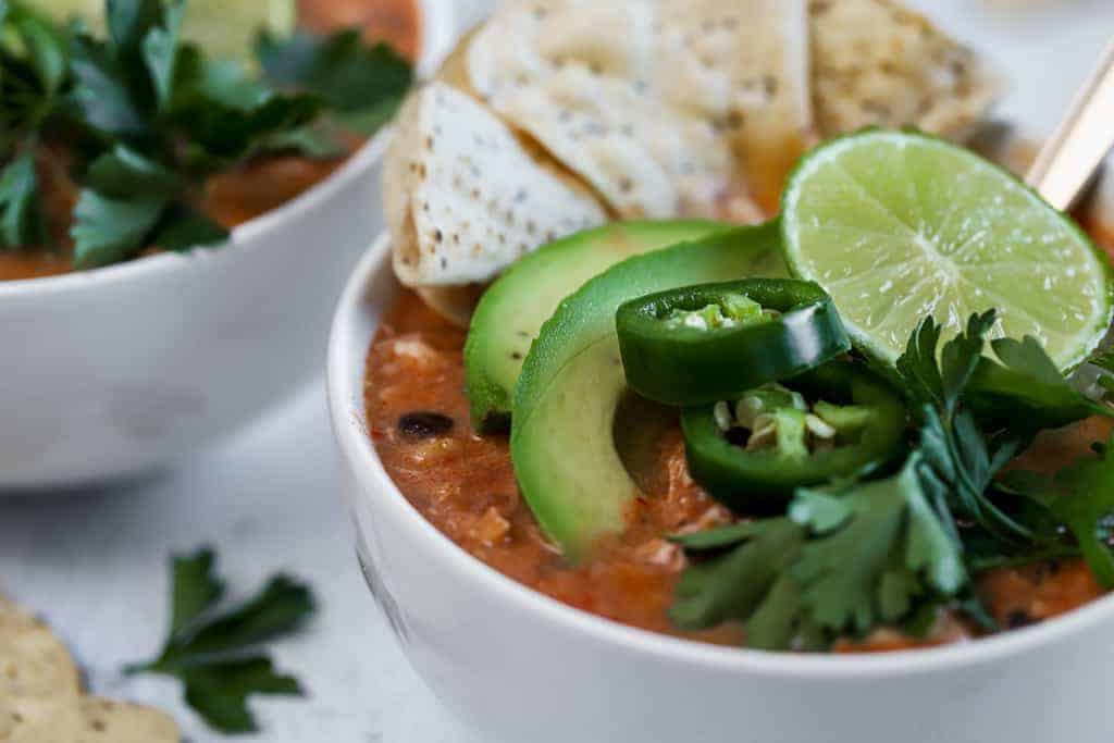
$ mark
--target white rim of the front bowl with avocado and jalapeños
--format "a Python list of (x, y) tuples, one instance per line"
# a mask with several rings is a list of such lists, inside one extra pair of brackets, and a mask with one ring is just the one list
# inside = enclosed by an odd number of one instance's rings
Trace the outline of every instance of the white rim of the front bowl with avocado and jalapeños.
[[(832, 680), (906, 677), (955, 672), (1068, 639), (1072, 635), (1114, 625), (1114, 594), (1032, 627), (1013, 629), (977, 641), (940, 647), (897, 651), (885, 654), (834, 655), (771, 653), (750, 648), (722, 647), (661, 635), (589, 614), (563, 604), (509, 578), (472, 557), (441, 534), (414, 508), (391, 480), (367, 433), (363, 401), (364, 360), (371, 338), (356, 339), (360, 319), (369, 311), (367, 287), (391, 273), (390, 236), (381, 234), (360, 260), (345, 286), (333, 320), (329, 341), (326, 385), (330, 418), (344, 459), (344, 467), (359, 488), (353, 498), (375, 498), (390, 509), (416, 538), (428, 541), (442, 569), (469, 580), (479, 593), (496, 594), (555, 628), (622, 647), (663, 662), (701, 666), (726, 673), (770, 678)], [(397, 292), (371, 300), (385, 310)], [(378, 323), (377, 323), (378, 324)], [(352, 360), (359, 360), (353, 364)], [(352, 401), (360, 401), (352, 410)]]

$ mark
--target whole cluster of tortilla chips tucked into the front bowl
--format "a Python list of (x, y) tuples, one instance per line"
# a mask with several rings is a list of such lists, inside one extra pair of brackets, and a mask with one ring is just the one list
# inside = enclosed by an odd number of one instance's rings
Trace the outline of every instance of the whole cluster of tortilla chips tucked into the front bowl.
[(612, 219), (760, 222), (813, 144), (966, 140), (996, 75), (897, 0), (517, 0), (403, 107), (384, 163), (399, 280), (463, 325), (522, 254)]

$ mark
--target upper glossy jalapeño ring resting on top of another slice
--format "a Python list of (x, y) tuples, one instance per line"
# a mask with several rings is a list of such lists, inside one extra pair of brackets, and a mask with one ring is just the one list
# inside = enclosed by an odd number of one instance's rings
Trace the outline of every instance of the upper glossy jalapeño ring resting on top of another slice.
[(670, 405), (736, 398), (851, 348), (831, 297), (790, 278), (649, 294), (620, 306), (615, 325), (627, 384)]

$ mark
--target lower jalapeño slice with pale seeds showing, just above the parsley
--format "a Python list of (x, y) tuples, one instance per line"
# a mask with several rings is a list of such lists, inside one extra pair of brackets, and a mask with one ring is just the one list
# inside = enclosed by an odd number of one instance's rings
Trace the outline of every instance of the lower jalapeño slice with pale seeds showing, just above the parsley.
[(786, 383), (681, 417), (693, 478), (740, 511), (783, 506), (800, 487), (852, 477), (906, 449), (906, 409), (861, 364), (833, 361)]

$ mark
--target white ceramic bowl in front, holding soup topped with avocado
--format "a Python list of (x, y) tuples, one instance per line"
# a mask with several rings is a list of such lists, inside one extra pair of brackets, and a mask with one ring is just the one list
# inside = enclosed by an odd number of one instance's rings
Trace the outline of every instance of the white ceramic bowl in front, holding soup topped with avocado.
[(345, 290), (329, 398), (368, 583), (413, 666), (496, 743), (1110, 743), (1114, 598), (882, 656), (722, 648), (631, 629), (489, 568), (429, 525), (367, 432), (364, 360), (398, 293), (387, 238)]

